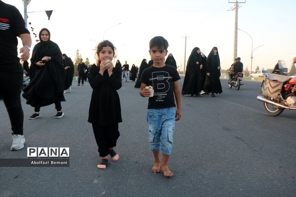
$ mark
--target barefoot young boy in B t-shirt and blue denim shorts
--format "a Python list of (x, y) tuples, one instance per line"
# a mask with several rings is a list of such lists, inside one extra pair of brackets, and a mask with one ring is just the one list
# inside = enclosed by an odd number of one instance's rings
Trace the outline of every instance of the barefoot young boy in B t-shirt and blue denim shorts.
[[(178, 83), (181, 78), (174, 66), (164, 63), (168, 46), (168, 41), (161, 36), (153, 37), (150, 40), (149, 53), (153, 65), (143, 71), (140, 79), (140, 95), (149, 97), (148, 140), (154, 156), (154, 165), (151, 171), (154, 173), (162, 171), (165, 177), (172, 177), (174, 173), (168, 167), (168, 161), (172, 153), (175, 121), (180, 120), (182, 116), (181, 91)], [(162, 153), (161, 161), (160, 151)]]

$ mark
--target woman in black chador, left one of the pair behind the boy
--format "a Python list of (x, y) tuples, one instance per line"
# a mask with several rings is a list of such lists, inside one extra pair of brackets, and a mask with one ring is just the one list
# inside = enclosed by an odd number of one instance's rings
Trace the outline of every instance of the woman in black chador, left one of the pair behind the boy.
[(200, 97), (202, 90), (202, 57), (198, 47), (193, 48), (186, 66), (182, 95)]

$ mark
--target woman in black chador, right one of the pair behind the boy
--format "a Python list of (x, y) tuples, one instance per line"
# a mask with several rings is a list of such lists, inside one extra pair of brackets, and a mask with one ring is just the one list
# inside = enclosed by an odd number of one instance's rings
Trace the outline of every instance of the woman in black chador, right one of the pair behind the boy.
[(212, 93), (212, 97), (216, 97), (215, 93), (216, 94), (222, 93), (222, 87), (220, 82), (221, 67), (220, 67), (220, 58), (219, 58), (217, 47), (213, 47), (212, 51), (208, 55), (206, 68), (207, 68), (207, 75), (209, 76), (209, 79), (211, 82), (210, 92)]

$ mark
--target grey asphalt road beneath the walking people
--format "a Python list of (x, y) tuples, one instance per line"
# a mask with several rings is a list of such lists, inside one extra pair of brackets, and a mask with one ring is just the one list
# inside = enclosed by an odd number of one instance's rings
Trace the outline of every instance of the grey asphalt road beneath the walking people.
[[(183, 79), (180, 80), (182, 87)], [(62, 102), (28, 120), (33, 107), (22, 99), (25, 148), (10, 151), (7, 112), (0, 101), (0, 158), (27, 158), (27, 147), (70, 147), (70, 167), (0, 167), (0, 197), (295, 197), (296, 111), (268, 116), (260, 82), (245, 81), (239, 91), (222, 80), (217, 98), (182, 97), (170, 168), (164, 178), (150, 172), (146, 110), (148, 99), (134, 83), (118, 91), (123, 123), (116, 151), (120, 160), (98, 169), (97, 145), (87, 122), (91, 88), (73, 82)]]

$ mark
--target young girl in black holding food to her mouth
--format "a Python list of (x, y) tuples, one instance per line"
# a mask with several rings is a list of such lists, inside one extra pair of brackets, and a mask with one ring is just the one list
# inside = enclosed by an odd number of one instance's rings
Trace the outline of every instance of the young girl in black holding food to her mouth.
[(108, 155), (112, 161), (118, 161), (119, 156), (114, 151), (119, 137), (118, 123), (122, 122), (120, 99), (117, 90), (121, 88), (121, 69), (114, 67), (114, 46), (109, 40), (98, 44), (96, 55), (97, 66), (89, 71), (89, 84), (93, 89), (88, 122), (92, 124), (98, 151), (102, 161), (97, 165), (105, 169), (108, 165)]

